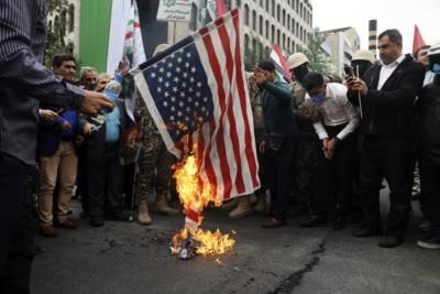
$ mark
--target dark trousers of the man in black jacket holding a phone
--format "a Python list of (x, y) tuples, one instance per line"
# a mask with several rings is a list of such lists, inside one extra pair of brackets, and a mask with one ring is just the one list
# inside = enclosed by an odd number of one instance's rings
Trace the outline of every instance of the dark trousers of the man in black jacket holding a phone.
[(359, 196), (365, 216), (365, 225), (382, 228), (380, 198), (382, 178), (389, 186), (389, 216), (385, 233), (404, 236), (410, 211), (411, 177), (408, 173), (410, 144), (381, 137), (365, 137), (361, 150)]

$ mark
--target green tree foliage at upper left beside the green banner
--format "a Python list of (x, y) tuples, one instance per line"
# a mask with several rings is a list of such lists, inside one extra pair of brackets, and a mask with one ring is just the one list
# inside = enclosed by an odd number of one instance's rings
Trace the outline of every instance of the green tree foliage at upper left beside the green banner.
[[(74, 44), (65, 42), (64, 37), (70, 29), (69, 23), (74, 18), (73, 4), (67, 0), (48, 0), (47, 1), (47, 41), (44, 52), (44, 64), (51, 66), (52, 58), (57, 53), (73, 53)], [(68, 19), (68, 20), (67, 20)]]

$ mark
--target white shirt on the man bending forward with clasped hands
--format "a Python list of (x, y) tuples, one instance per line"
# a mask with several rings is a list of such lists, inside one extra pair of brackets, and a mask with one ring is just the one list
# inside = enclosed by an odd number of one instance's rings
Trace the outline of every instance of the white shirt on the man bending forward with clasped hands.
[[(329, 83), (326, 88), (326, 98), (321, 104), (315, 106), (321, 115), (321, 121), (314, 123), (315, 131), (320, 140), (329, 138), (323, 126), (334, 127), (348, 123), (337, 135), (340, 140), (343, 140), (358, 128), (359, 115), (346, 98), (346, 87), (342, 84)], [(314, 104), (308, 94), (306, 101)]]

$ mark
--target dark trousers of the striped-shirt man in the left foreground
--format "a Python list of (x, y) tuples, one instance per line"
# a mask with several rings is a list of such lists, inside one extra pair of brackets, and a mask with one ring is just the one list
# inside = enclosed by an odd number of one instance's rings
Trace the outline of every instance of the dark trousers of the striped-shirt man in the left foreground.
[(29, 166), (0, 152), (0, 293), (30, 293), (34, 220)]

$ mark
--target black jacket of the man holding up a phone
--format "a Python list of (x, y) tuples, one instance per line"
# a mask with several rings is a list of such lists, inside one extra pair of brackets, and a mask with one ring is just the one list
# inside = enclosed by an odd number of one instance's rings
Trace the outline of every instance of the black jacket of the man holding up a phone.
[[(381, 64), (375, 63), (364, 75), (369, 92), (361, 98), (363, 119), (362, 134), (411, 139), (414, 101), (418, 96), (425, 77), (425, 69), (407, 54), (381, 90), (377, 84)], [(358, 92), (348, 92), (350, 101), (359, 106)]]

